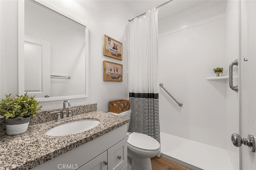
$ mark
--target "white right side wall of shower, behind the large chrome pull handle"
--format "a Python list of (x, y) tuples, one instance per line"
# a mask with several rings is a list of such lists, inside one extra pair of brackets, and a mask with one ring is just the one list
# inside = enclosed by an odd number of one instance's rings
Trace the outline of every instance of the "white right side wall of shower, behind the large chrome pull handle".
[[(239, 25), (238, 25), (238, 5), (239, 1), (230, 0), (226, 14), (226, 68), (229, 64), (239, 57)], [(238, 75), (237, 67), (234, 66), (234, 76)], [(234, 86), (238, 85), (238, 79), (234, 77)], [(226, 143), (230, 160), (234, 170), (239, 169), (239, 148), (231, 142), (231, 134), (239, 134), (239, 95), (229, 88), (227, 89), (227, 111), (226, 111)]]

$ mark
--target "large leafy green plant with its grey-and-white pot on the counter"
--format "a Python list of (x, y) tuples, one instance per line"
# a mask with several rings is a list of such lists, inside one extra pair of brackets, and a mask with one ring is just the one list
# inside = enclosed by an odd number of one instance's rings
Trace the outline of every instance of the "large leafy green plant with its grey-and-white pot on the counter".
[(26, 132), (31, 117), (39, 113), (42, 106), (34, 99), (34, 96), (25, 95), (12, 97), (5, 95), (0, 101), (0, 115), (5, 117), (6, 131), (8, 135)]

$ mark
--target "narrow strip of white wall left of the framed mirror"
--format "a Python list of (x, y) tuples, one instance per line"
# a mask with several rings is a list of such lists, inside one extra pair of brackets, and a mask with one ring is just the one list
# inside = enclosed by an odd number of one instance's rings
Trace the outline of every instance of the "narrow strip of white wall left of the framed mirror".
[(0, 1), (1, 98), (18, 94), (18, 2)]

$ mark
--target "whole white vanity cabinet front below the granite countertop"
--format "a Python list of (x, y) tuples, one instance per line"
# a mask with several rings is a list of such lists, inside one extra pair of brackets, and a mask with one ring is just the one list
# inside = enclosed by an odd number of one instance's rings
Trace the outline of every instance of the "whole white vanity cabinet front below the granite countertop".
[(126, 131), (126, 125), (118, 127), (33, 169), (127, 170)]

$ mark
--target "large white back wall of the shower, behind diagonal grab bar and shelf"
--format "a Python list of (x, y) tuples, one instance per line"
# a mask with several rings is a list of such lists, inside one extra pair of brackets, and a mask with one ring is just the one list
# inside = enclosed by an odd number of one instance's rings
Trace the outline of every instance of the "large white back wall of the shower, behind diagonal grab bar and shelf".
[[(226, 138), (226, 80), (206, 80), (215, 77), (212, 70), (215, 67), (224, 67), (224, 75), (228, 75), (225, 14), (220, 13), (225, 10), (214, 13), (204, 9), (204, 15), (199, 11), (201, 18), (198, 18), (194, 9), (159, 22), (159, 30), (165, 31), (159, 37), (159, 83), (183, 103), (178, 107), (160, 88), (160, 129), (226, 148), (226, 141), (220, 140)], [(193, 20), (187, 22), (185, 16)], [(182, 22), (186, 27), (180, 28)]]

